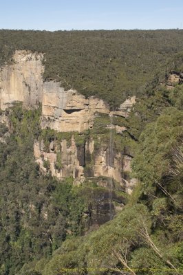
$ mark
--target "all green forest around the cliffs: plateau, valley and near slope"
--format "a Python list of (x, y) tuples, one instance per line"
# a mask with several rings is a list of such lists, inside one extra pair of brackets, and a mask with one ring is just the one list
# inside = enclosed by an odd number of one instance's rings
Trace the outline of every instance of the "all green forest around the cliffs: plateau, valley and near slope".
[[(13, 62), (15, 49), (44, 52), (47, 80), (111, 107), (138, 96), (129, 117), (113, 122), (127, 127), (119, 147), (124, 137), (133, 140), (138, 184), (131, 195), (114, 188), (113, 203), (124, 206), (110, 221), (109, 188), (41, 173), (34, 140), (64, 135), (41, 130), (41, 106), (1, 111), (10, 122), (0, 124), (1, 275), (183, 274), (183, 85), (160, 85), (169, 69), (182, 69), (182, 36), (182, 30), (0, 31), (1, 65)], [(96, 118), (93, 137), (106, 135), (108, 122)], [(96, 225), (100, 215), (107, 222)]]

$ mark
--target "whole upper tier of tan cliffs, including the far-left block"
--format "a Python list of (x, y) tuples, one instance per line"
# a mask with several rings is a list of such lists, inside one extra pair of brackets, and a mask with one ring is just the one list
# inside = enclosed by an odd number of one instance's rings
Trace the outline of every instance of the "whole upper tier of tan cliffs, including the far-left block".
[(42, 104), (41, 127), (56, 131), (83, 132), (91, 129), (96, 113), (129, 115), (136, 98), (125, 100), (116, 112), (110, 112), (103, 100), (65, 91), (61, 83), (43, 82), (43, 54), (16, 51), (14, 63), (0, 69), (0, 107), (6, 109), (13, 102), (23, 102), (26, 108)]

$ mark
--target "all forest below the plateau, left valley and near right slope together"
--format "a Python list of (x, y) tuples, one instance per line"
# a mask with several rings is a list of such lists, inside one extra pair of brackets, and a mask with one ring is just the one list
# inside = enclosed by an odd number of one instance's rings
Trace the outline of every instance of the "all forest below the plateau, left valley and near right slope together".
[(93, 204), (101, 203), (108, 191), (41, 175), (33, 157), (40, 109), (16, 104), (7, 110), (12, 131), (6, 136), (1, 124), (1, 274), (182, 274), (182, 102), (182, 85), (156, 87), (138, 100), (126, 124), (138, 140), (133, 173), (139, 184), (116, 217), (92, 232), (83, 213), (91, 194)]

